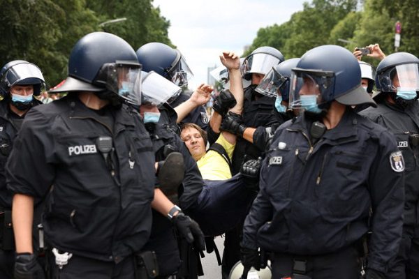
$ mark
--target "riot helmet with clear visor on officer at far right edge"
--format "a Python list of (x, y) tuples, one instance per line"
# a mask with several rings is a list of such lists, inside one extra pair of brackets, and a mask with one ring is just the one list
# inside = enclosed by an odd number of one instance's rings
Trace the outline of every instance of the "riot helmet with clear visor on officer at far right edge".
[(408, 52), (396, 52), (386, 56), (377, 66), (376, 89), (383, 92), (397, 91), (397, 86), (393, 84), (393, 78), (397, 75), (399, 86), (419, 91), (418, 66), (418, 57)]

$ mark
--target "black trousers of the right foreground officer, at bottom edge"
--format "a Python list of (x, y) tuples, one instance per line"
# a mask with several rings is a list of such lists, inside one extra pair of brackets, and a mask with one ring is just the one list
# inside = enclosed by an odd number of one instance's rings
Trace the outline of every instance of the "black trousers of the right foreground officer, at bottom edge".
[(271, 259), (272, 278), (300, 273), (311, 279), (360, 278), (359, 253), (348, 247), (325, 255), (291, 255), (274, 253)]

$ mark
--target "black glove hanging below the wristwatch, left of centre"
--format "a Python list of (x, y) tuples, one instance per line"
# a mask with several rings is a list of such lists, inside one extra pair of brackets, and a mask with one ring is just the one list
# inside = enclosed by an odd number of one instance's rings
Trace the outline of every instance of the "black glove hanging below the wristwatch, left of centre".
[(183, 212), (177, 213), (173, 216), (172, 223), (175, 224), (177, 232), (184, 236), (188, 243), (195, 241), (196, 246), (200, 251), (205, 251), (205, 236), (200, 230), (198, 223), (184, 215)]

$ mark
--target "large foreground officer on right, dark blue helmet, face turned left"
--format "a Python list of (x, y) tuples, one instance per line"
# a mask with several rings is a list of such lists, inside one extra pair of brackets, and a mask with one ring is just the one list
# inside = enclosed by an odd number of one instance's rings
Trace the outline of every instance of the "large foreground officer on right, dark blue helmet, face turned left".
[(277, 129), (263, 161), (246, 269), (258, 268), (260, 247), (273, 254), (272, 278), (359, 278), (357, 247), (371, 229), (366, 278), (383, 278), (402, 235), (404, 161), (391, 133), (353, 112), (362, 103), (376, 105), (343, 47), (315, 47), (293, 68), (290, 104), (302, 113)]

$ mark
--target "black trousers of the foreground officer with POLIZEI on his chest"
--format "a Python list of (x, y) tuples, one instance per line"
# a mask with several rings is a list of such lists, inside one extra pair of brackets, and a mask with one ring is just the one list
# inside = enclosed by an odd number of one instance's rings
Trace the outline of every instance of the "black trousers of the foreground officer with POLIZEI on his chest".
[(103, 262), (73, 255), (62, 269), (55, 264), (54, 255), (50, 255), (51, 279), (135, 279), (134, 257), (127, 257), (118, 264)]

